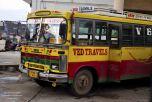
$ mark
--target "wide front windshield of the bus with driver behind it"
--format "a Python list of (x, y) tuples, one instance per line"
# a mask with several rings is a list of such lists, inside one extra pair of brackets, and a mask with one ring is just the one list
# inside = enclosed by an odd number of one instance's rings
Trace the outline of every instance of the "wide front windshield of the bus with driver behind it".
[(66, 41), (64, 18), (29, 19), (27, 41), (47, 44), (63, 44)]

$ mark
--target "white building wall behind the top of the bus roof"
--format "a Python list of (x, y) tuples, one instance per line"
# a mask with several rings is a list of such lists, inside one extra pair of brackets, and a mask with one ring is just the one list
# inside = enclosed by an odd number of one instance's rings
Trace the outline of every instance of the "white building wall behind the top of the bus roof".
[(80, 6), (113, 9), (113, 4), (114, 0), (32, 0), (32, 11), (45, 8), (69, 11)]

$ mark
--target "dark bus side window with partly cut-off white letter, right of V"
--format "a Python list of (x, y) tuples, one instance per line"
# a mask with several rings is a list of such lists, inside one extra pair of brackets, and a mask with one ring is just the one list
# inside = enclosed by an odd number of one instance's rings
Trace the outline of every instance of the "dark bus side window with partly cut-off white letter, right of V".
[(152, 26), (145, 27), (145, 45), (152, 46)]

